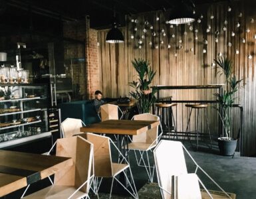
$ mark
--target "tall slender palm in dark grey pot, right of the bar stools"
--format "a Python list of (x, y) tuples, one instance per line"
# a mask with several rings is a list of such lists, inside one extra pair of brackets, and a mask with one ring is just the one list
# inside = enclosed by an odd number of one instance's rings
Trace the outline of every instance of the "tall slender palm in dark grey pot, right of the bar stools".
[(227, 57), (220, 56), (215, 60), (220, 74), (224, 74), (225, 89), (223, 94), (214, 94), (218, 102), (217, 113), (223, 125), (221, 137), (218, 138), (219, 151), (221, 155), (233, 155), (237, 147), (237, 139), (233, 137), (232, 131), (232, 107), (235, 103), (235, 93), (239, 89), (242, 80), (232, 76), (232, 62)]

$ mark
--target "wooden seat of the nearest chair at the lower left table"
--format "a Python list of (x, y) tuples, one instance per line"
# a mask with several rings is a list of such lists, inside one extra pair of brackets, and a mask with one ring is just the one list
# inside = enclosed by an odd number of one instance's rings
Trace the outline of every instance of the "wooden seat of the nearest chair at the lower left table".
[[(29, 196), (26, 196), (24, 198), (61, 199), (61, 198), (68, 198), (75, 191), (76, 191), (76, 188), (74, 186), (52, 185), (52, 186), (48, 186), (47, 188), (44, 188), (42, 190), (39, 190), (38, 192), (30, 194)], [(86, 195), (87, 195), (86, 193), (78, 191), (78, 192), (76, 192), (76, 194), (74, 194), (74, 196), (72, 196), (72, 199), (84, 198)]]

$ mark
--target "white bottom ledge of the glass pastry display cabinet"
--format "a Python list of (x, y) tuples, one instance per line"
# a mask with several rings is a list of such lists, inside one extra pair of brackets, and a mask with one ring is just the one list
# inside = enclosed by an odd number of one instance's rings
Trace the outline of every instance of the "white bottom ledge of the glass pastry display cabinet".
[(23, 143), (27, 143), (29, 141), (34, 141), (35, 139), (42, 139), (45, 137), (51, 137), (51, 132), (39, 133), (37, 135), (30, 135), (28, 137), (22, 137), (19, 139), (13, 139), (10, 141), (5, 141), (0, 143), (0, 149), (5, 147), (13, 147), (14, 145), (19, 145)]

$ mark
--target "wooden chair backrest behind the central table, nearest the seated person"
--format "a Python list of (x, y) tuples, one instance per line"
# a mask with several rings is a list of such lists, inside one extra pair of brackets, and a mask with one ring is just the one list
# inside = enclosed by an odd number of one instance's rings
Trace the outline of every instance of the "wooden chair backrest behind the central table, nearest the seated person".
[(100, 106), (101, 121), (118, 118), (118, 105), (104, 104)]

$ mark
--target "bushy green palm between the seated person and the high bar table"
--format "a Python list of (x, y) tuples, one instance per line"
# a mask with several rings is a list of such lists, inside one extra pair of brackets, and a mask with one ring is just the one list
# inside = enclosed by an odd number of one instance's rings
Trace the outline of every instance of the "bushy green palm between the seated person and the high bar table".
[(150, 67), (150, 62), (143, 59), (134, 59), (132, 66), (138, 74), (138, 80), (135, 82), (129, 82), (129, 86), (132, 86), (134, 90), (130, 92), (132, 98), (137, 102), (139, 113), (150, 113), (152, 105), (156, 102), (156, 88), (150, 90), (150, 84), (156, 72)]

